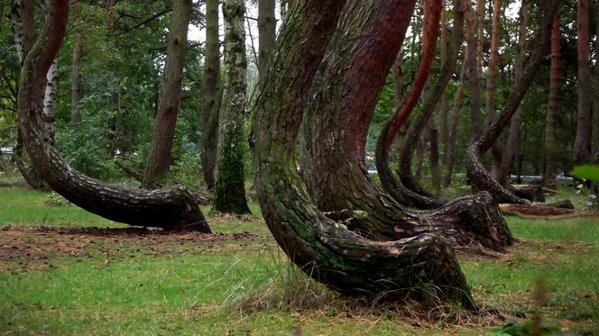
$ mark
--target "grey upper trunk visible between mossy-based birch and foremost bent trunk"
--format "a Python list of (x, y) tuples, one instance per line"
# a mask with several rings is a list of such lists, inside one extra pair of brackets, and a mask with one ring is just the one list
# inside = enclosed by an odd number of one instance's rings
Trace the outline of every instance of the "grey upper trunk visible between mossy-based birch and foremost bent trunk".
[(258, 76), (263, 79), (277, 40), (275, 0), (258, 1)]

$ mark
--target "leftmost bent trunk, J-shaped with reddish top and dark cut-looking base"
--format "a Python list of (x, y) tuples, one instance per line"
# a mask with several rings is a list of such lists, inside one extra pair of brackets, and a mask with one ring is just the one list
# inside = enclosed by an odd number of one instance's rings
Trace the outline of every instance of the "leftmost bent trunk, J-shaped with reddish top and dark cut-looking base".
[(51, 0), (44, 32), (25, 59), (19, 82), (19, 128), (41, 177), (73, 204), (115, 222), (169, 230), (210, 232), (189, 190), (172, 186), (154, 191), (107, 186), (69, 167), (41, 120), (45, 77), (64, 38), (68, 0)]

